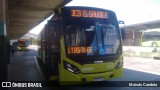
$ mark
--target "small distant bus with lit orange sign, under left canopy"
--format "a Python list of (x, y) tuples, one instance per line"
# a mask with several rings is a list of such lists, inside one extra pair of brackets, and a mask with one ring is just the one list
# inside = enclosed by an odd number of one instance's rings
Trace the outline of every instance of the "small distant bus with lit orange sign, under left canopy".
[(25, 51), (29, 50), (29, 40), (28, 39), (18, 39), (17, 41), (17, 50)]

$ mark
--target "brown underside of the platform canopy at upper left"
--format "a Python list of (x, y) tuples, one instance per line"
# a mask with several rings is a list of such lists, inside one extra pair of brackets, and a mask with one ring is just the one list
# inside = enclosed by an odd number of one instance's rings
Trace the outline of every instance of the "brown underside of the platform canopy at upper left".
[[(9, 38), (18, 39), (71, 0), (8, 0)], [(14, 36), (15, 35), (15, 36)]]

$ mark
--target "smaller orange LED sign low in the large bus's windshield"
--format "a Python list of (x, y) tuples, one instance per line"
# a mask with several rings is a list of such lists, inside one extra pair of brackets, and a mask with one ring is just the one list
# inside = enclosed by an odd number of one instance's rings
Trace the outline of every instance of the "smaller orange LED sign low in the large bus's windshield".
[(91, 53), (92, 47), (68, 47), (68, 54)]

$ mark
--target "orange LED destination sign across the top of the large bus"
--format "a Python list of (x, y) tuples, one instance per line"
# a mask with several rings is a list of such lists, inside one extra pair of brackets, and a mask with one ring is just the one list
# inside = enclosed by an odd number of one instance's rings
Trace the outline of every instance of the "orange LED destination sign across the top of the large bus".
[(72, 17), (108, 18), (107, 12), (90, 10), (72, 10)]

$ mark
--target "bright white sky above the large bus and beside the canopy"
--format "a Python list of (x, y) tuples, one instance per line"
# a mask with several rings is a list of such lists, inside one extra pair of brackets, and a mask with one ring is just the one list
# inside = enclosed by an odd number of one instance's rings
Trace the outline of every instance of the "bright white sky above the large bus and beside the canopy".
[[(89, 6), (112, 10), (126, 25), (160, 20), (160, 0), (72, 0), (67, 6)], [(30, 32), (38, 34), (43, 22)]]

